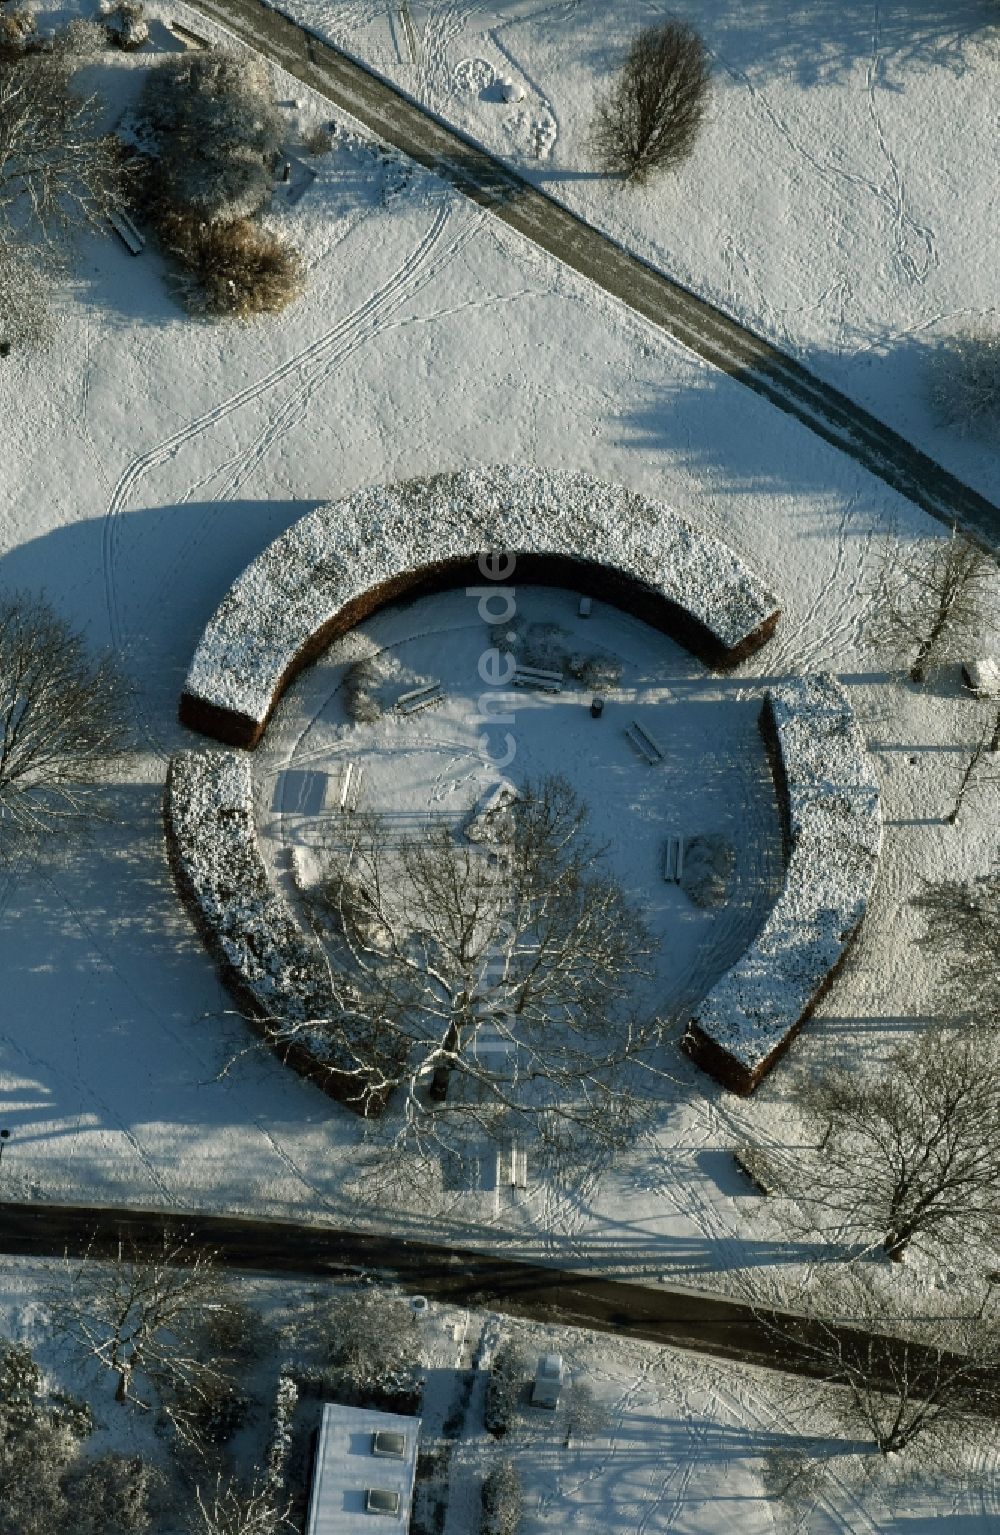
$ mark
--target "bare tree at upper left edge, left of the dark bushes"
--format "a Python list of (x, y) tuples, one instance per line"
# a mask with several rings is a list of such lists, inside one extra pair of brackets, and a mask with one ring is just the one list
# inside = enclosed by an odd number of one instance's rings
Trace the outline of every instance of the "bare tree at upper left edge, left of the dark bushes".
[(52, 241), (120, 203), (120, 146), (72, 68), (65, 54), (0, 61), (0, 238)]

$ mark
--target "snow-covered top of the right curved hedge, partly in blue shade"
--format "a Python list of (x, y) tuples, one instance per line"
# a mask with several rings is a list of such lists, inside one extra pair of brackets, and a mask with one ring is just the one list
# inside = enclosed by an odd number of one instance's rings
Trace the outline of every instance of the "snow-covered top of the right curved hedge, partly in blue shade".
[(697, 1025), (753, 1071), (799, 1022), (860, 924), (879, 863), (882, 809), (843, 689), (829, 675), (768, 691), (788, 795), (783, 890)]

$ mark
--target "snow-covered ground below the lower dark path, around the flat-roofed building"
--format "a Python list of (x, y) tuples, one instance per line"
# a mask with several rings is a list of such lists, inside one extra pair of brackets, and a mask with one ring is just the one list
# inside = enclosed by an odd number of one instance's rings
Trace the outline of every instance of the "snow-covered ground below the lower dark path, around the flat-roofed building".
[[(172, 1480), (169, 1438), (157, 1432), (155, 1414), (117, 1403), (112, 1377), (54, 1331), (66, 1280), (61, 1263), (0, 1259), (0, 1337), (26, 1343), (51, 1388), (91, 1405), (86, 1457), (117, 1451), (160, 1466), (169, 1480), (154, 1529), (175, 1535), (189, 1527), (183, 1512), (192, 1494)], [(273, 1329), (243, 1382), (252, 1409), (230, 1444), (237, 1472), (249, 1475), (267, 1443), (280, 1360), (287, 1357), (278, 1329), (330, 1286), (253, 1277), (235, 1288)], [(482, 1408), (501, 1340), (521, 1354), (525, 1380), (541, 1354), (559, 1352), (565, 1385), (555, 1411), (528, 1406), (522, 1392), (507, 1435), (495, 1440)], [(419, 1446), (436, 1457), (432, 1495), (447, 1477), (444, 1535), (476, 1529), (482, 1477), (502, 1460), (521, 1477), (522, 1535), (567, 1527), (581, 1535), (917, 1535), (942, 1518), (963, 1535), (994, 1527), (997, 1500), (975, 1457), (946, 1475), (919, 1457), (905, 1467), (876, 1464), (837, 1440), (820, 1392), (797, 1385), (790, 1394), (788, 1382), (768, 1371), (438, 1305), (421, 1322), (421, 1349)], [(461, 1372), (470, 1366), (476, 1374), (464, 1395)], [(444, 1435), (447, 1420), (453, 1428)], [(210, 1486), (214, 1477), (198, 1480)]]

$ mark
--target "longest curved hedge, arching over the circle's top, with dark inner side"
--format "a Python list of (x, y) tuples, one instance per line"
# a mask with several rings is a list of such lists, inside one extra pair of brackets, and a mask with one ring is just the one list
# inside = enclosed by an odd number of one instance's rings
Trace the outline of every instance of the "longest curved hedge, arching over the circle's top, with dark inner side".
[[(479, 550), (508, 551), (512, 574), (484, 577)], [(372, 487), (293, 523), (209, 620), (181, 721), (253, 748), (292, 677), (338, 634), (402, 593), (462, 582), (476, 597), (518, 582), (591, 593), (716, 668), (753, 654), (779, 619), (733, 550), (661, 502), (582, 474), (465, 470)]]

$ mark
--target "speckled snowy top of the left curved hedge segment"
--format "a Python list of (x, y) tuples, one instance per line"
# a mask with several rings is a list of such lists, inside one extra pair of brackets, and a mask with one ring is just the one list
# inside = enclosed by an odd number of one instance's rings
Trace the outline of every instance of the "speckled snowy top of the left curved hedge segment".
[[(253, 820), (250, 764), (235, 752), (180, 752), (166, 800), (174, 857), (212, 946), (264, 1018), (330, 1015), (323, 950), (272, 886)], [(320, 1035), (320, 1032), (316, 1032)], [(315, 1047), (318, 1038), (309, 1038)]]

